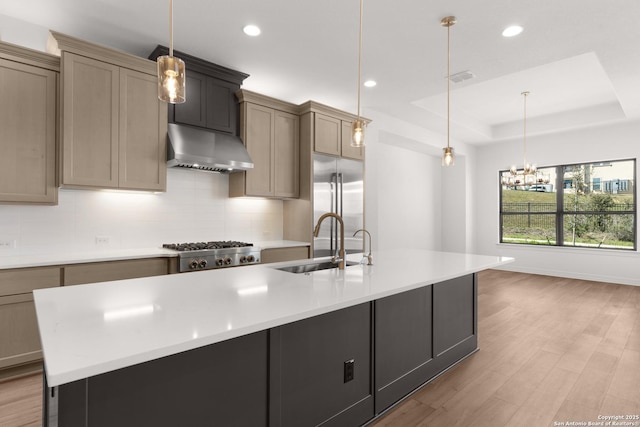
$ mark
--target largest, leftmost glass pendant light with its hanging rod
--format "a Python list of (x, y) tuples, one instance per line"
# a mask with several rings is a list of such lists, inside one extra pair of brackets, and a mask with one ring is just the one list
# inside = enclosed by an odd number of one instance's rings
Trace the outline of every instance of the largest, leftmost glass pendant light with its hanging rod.
[(158, 98), (182, 104), (185, 98), (184, 61), (173, 56), (173, 0), (169, 0), (169, 55), (158, 57)]

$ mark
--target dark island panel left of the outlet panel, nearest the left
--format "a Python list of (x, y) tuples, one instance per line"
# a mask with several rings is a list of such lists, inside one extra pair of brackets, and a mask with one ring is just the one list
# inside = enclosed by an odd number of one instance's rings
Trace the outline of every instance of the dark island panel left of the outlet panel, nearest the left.
[(267, 346), (262, 331), (64, 384), (56, 425), (267, 426)]

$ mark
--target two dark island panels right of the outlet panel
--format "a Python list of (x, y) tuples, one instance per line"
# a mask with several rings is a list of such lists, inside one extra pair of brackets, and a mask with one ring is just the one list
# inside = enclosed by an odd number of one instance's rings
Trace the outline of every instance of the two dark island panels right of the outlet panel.
[(477, 349), (476, 278), (375, 301), (376, 414)]

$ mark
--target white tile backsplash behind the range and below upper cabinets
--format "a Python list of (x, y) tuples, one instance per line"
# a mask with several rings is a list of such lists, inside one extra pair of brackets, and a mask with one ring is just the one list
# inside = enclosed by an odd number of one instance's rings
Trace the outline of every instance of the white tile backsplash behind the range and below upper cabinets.
[(229, 198), (228, 183), (169, 169), (166, 193), (61, 189), (57, 206), (0, 205), (0, 256), (282, 239), (282, 201)]

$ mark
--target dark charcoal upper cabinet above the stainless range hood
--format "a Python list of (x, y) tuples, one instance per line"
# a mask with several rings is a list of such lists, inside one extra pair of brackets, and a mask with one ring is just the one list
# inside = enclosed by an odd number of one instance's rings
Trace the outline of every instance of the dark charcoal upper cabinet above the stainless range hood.
[[(168, 55), (169, 49), (157, 46), (149, 55)], [(169, 106), (169, 122), (197, 126), (237, 135), (238, 102), (235, 93), (248, 74), (222, 67), (184, 52), (174, 51), (186, 66), (186, 102)]]

